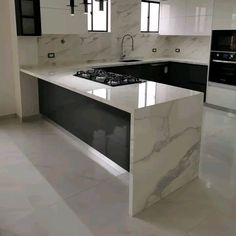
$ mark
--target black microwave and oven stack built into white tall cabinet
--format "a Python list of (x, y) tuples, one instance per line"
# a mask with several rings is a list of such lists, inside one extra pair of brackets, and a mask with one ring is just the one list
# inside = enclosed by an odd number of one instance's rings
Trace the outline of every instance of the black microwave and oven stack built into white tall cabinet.
[(209, 81), (236, 85), (236, 30), (212, 32)]

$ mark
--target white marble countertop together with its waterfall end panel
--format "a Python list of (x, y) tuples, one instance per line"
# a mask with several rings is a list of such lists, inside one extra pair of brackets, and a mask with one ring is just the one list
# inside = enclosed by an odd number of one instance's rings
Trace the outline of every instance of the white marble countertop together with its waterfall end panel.
[[(150, 207), (198, 176), (203, 94), (155, 82), (110, 87), (75, 77), (73, 74), (77, 70), (96, 66), (167, 61), (173, 60), (168, 58), (135, 63), (114, 62), (21, 68), (21, 72), (27, 74), (22, 75), (26, 77), (21, 78), (23, 84), (32, 82), (37, 85), (36, 80), (33, 81), (36, 77), (131, 113), (130, 173), (132, 177), (129, 183), (131, 216)], [(186, 63), (183, 60), (181, 62)], [(37, 89), (35, 88), (34, 91), (35, 96), (32, 100), (37, 100)], [(29, 96), (32, 97), (32, 93), (30, 89)], [(32, 104), (31, 108), (35, 107), (35, 104), (38, 105), (38, 102), (33, 101)], [(35, 111), (38, 112), (38, 109)]]

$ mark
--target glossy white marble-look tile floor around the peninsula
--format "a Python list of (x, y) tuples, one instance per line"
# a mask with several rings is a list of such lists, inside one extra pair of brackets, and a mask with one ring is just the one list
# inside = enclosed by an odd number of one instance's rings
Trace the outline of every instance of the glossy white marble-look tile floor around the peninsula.
[(236, 116), (205, 108), (200, 178), (135, 218), (114, 177), (45, 120), (0, 121), (0, 236), (236, 235)]

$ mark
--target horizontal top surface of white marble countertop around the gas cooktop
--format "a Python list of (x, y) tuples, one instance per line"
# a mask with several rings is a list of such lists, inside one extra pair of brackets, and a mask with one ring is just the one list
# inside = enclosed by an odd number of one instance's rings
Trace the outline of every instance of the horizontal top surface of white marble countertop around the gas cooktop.
[(33, 77), (48, 81), (55, 85), (64, 87), (97, 101), (111, 105), (118, 109), (133, 113), (136, 109), (141, 109), (168, 101), (173, 101), (189, 96), (200, 94), (199, 92), (164, 85), (155, 82), (144, 82), (141, 84), (131, 84), (118, 87), (110, 87), (97, 82), (73, 76), (76, 71), (96, 66), (119, 66), (133, 65), (141, 63), (157, 63), (167, 61), (178, 61), (190, 64), (201, 64), (197, 61), (172, 60), (170, 58), (151, 59), (141, 62), (122, 63), (93, 63), (93, 64), (74, 64), (74, 65), (36, 65), (22, 66), (20, 71)]

